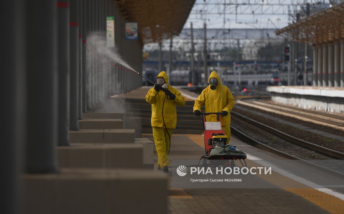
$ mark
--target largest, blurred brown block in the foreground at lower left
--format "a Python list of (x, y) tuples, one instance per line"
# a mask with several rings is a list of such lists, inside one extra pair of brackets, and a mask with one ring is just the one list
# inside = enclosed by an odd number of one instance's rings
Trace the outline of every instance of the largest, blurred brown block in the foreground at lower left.
[[(144, 169), (60, 169), (23, 175), (23, 213), (167, 213), (167, 175)], [(147, 191), (149, 190), (149, 191)]]

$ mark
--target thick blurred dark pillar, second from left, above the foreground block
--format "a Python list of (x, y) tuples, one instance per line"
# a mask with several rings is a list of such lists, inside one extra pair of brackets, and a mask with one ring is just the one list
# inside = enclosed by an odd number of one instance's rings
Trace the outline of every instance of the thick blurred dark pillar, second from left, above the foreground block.
[(25, 8), (28, 71), (25, 172), (55, 173), (58, 123), (56, 1), (32, 1)]

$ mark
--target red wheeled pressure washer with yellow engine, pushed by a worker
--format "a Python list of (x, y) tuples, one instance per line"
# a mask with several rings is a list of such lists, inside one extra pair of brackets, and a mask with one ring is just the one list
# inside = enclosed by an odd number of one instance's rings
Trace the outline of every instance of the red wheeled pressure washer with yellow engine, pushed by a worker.
[[(216, 115), (217, 122), (207, 122), (206, 116), (207, 115)], [(214, 162), (212, 160), (224, 160), (222, 163), (223, 167), (231, 167), (235, 166), (235, 160), (239, 160), (241, 165), (244, 167), (243, 162), (246, 165), (246, 153), (237, 150), (236, 146), (232, 144), (227, 144), (227, 136), (225, 132), (222, 130), (221, 125), (221, 112), (207, 112), (202, 113), (203, 116), (203, 130), (204, 130), (204, 145), (205, 145), (205, 155), (200, 158), (198, 165), (200, 165), (201, 160), (203, 159), (203, 166), (206, 167), (207, 165), (214, 166)], [(209, 164), (207, 164), (207, 160), (209, 160)], [(218, 165), (218, 161), (216, 162)]]

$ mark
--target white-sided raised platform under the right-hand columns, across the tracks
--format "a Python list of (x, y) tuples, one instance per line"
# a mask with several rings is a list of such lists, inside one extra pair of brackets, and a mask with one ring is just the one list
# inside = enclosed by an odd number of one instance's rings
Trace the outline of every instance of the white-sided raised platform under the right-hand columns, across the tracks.
[(268, 86), (271, 100), (315, 110), (344, 112), (344, 88), (325, 86)]

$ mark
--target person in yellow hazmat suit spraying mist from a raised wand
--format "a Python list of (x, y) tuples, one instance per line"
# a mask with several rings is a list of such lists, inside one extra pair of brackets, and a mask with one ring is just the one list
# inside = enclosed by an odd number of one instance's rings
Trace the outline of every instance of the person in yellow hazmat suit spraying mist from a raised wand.
[(172, 129), (175, 129), (177, 123), (175, 104), (185, 105), (185, 98), (178, 90), (168, 85), (168, 80), (166, 72), (161, 71), (157, 76), (157, 85), (151, 88), (146, 95), (146, 101), (152, 104), (151, 125), (158, 154), (157, 166), (166, 173), (169, 167), (168, 153)]

